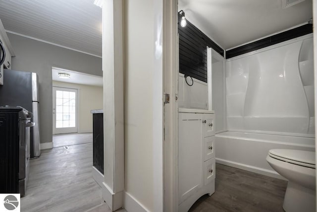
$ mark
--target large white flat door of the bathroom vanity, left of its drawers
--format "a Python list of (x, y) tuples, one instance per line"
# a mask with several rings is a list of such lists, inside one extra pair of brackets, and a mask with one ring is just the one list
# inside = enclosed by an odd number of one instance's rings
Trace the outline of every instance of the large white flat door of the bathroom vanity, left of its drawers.
[(195, 194), (204, 184), (201, 117), (201, 114), (179, 113), (178, 204)]

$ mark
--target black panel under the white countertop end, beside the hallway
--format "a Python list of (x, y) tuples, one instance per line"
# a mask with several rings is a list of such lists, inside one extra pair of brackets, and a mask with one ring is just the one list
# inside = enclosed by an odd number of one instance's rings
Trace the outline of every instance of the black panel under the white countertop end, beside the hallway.
[(93, 114), (93, 166), (104, 174), (104, 114)]

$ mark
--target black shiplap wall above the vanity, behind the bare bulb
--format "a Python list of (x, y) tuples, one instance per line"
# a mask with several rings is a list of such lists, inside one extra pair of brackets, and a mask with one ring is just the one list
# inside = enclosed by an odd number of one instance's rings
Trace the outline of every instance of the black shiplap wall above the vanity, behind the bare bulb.
[(224, 50), (188, 20), (181, 27), (180, 19), (178, 14), (179, 72), (207, 82), (207, 46), (222, 56)]

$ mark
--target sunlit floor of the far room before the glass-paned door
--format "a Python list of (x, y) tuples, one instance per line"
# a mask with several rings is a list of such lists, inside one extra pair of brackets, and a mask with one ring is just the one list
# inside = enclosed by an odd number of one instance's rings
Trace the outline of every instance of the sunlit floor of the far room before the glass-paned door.
[(53, 147), (93, 142), (92, 133), (53, 135)]

